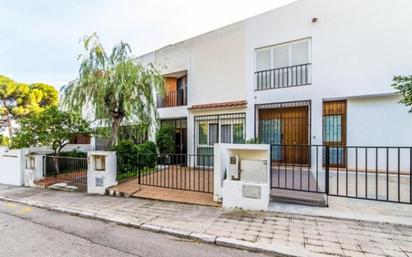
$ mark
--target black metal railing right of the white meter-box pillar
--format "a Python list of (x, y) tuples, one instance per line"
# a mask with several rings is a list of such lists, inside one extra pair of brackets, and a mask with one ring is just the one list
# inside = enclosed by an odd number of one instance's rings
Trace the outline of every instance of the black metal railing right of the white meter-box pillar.
[(271, 187), (412, 203), (412, 147), (272, 145)]

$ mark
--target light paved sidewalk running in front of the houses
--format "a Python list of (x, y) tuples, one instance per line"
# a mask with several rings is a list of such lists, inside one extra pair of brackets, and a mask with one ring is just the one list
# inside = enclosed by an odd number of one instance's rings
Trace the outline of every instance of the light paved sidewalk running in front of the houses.
[(207, 243), (289, 256), (412, 256), (412, 227), (0, 185), (16, 201)]

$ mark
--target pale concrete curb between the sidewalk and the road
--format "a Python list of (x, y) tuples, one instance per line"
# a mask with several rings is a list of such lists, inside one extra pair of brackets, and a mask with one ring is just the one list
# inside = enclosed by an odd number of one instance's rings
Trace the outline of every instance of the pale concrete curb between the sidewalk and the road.
[(112, 222), (112, 223), (122, 225), (122, 226), (133, 227), (133, 228), (151, 231), (155, 233), (168, 234), (168, 235), (172, 235), (176, 237), (200, 241), (202, 243), (215, 244), (219, 246), (236, 248), (240, 250), (270, 253), (275, 256), (296, 256), (296, 257), (313, 256), (313, 254), (309, 254), (309, 252), (305, 250), (304, 248), (291, 249), (291, 248), (276, 246), (276, 245), (271, 245), (271, 244), (254, 243), (254, 242), (248, 242), (248, 241), (243, 241), (243, 240), (237, 240), (233, 238), (217, 237), (217, 236), (210, 235), (210, 234), (194, 233), (194, 232), (189, 232), (185, 230), (161, 227), (161, 226), (156, 226), (156, 225), (151, 225), (151, 224), (146, 224), (146, 223), (141, 223), (141, 224), (130, 223), (122, 218), (113, 218), (113, 217), (109, 218), (109, 217), (105, 217), (104, 215), (99, 215), (98, 213), (76, 211), (72, 209), (66, 209), (60, 206), (49, 206), (43, 203), (13, 199), (7, 196), (0, 196), (0, 200), (25, 204), (25, 205), (29, 205), (32, 207), (42, 208), (42, 209), (46, 209), (50, 211), (57, 211), (57, 212), (66, 213), (66, 214), (73, 215), (73, 216), (79, 216), (79, 217), (83, 217), (87, 219), (100, 220), (103, 222)]

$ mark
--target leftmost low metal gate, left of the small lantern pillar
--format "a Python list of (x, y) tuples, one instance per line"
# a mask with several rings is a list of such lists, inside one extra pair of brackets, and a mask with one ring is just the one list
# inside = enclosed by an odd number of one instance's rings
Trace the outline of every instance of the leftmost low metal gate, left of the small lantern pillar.
[(87, 184), (87, 158), (47, 155), (44, 157), (44, 176), (62, 182)]

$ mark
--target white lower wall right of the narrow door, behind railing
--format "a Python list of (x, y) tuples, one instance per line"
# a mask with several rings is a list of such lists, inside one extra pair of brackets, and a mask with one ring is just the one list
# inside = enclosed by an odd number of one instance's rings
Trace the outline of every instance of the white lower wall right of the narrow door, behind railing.
[[(347, 145), (382, 146), (378, 150), (370, 148), (367, 158), (366, 150), (359, 149), (358, 168), (365, 168), (367, 159), (368, 167), (375, 169), (377, 154), (379, 170), (386, 170), (388, 158), (390, 171), (397, 172), (399, 169), (403, 173), (410, 172), (412, 113), (408, 112), (409, 108), (399, 103), (399, 99), (399, 96), (348, 99)], [(395, 148), (386, 149), (385, 146)], [(351, 168), (354, 168), (354, 149), (348, 149), (348, 160)]]

